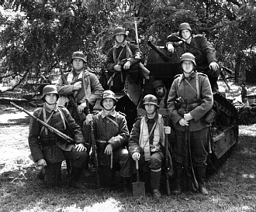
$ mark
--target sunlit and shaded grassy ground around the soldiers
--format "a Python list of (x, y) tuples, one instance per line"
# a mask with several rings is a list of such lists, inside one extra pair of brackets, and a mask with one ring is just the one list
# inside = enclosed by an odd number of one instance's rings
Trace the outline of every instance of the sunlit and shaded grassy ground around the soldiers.
[[(240, 88), (233, 84), (227, 97), (240, 101)], [(254, 87), (248, 87), (254, 93)], [(32, 112), (26, 104), (21, 105)], [(29, 117), (10, 104), (0, 104), (0, 211), (255, 211), (256, 128), (239, 126), (239, 143), (216, 174), (209, 176), (209, 196), (182, 193), (159, 202), (136, 198), (119, 190), (73, 190), (68, 186), (47, 189), (36, 179), (38, 167), (28, 158)], [(65, 169), (63, 175), (65, 176)], [(86, 182), (85, 182), (86, 183)]]

